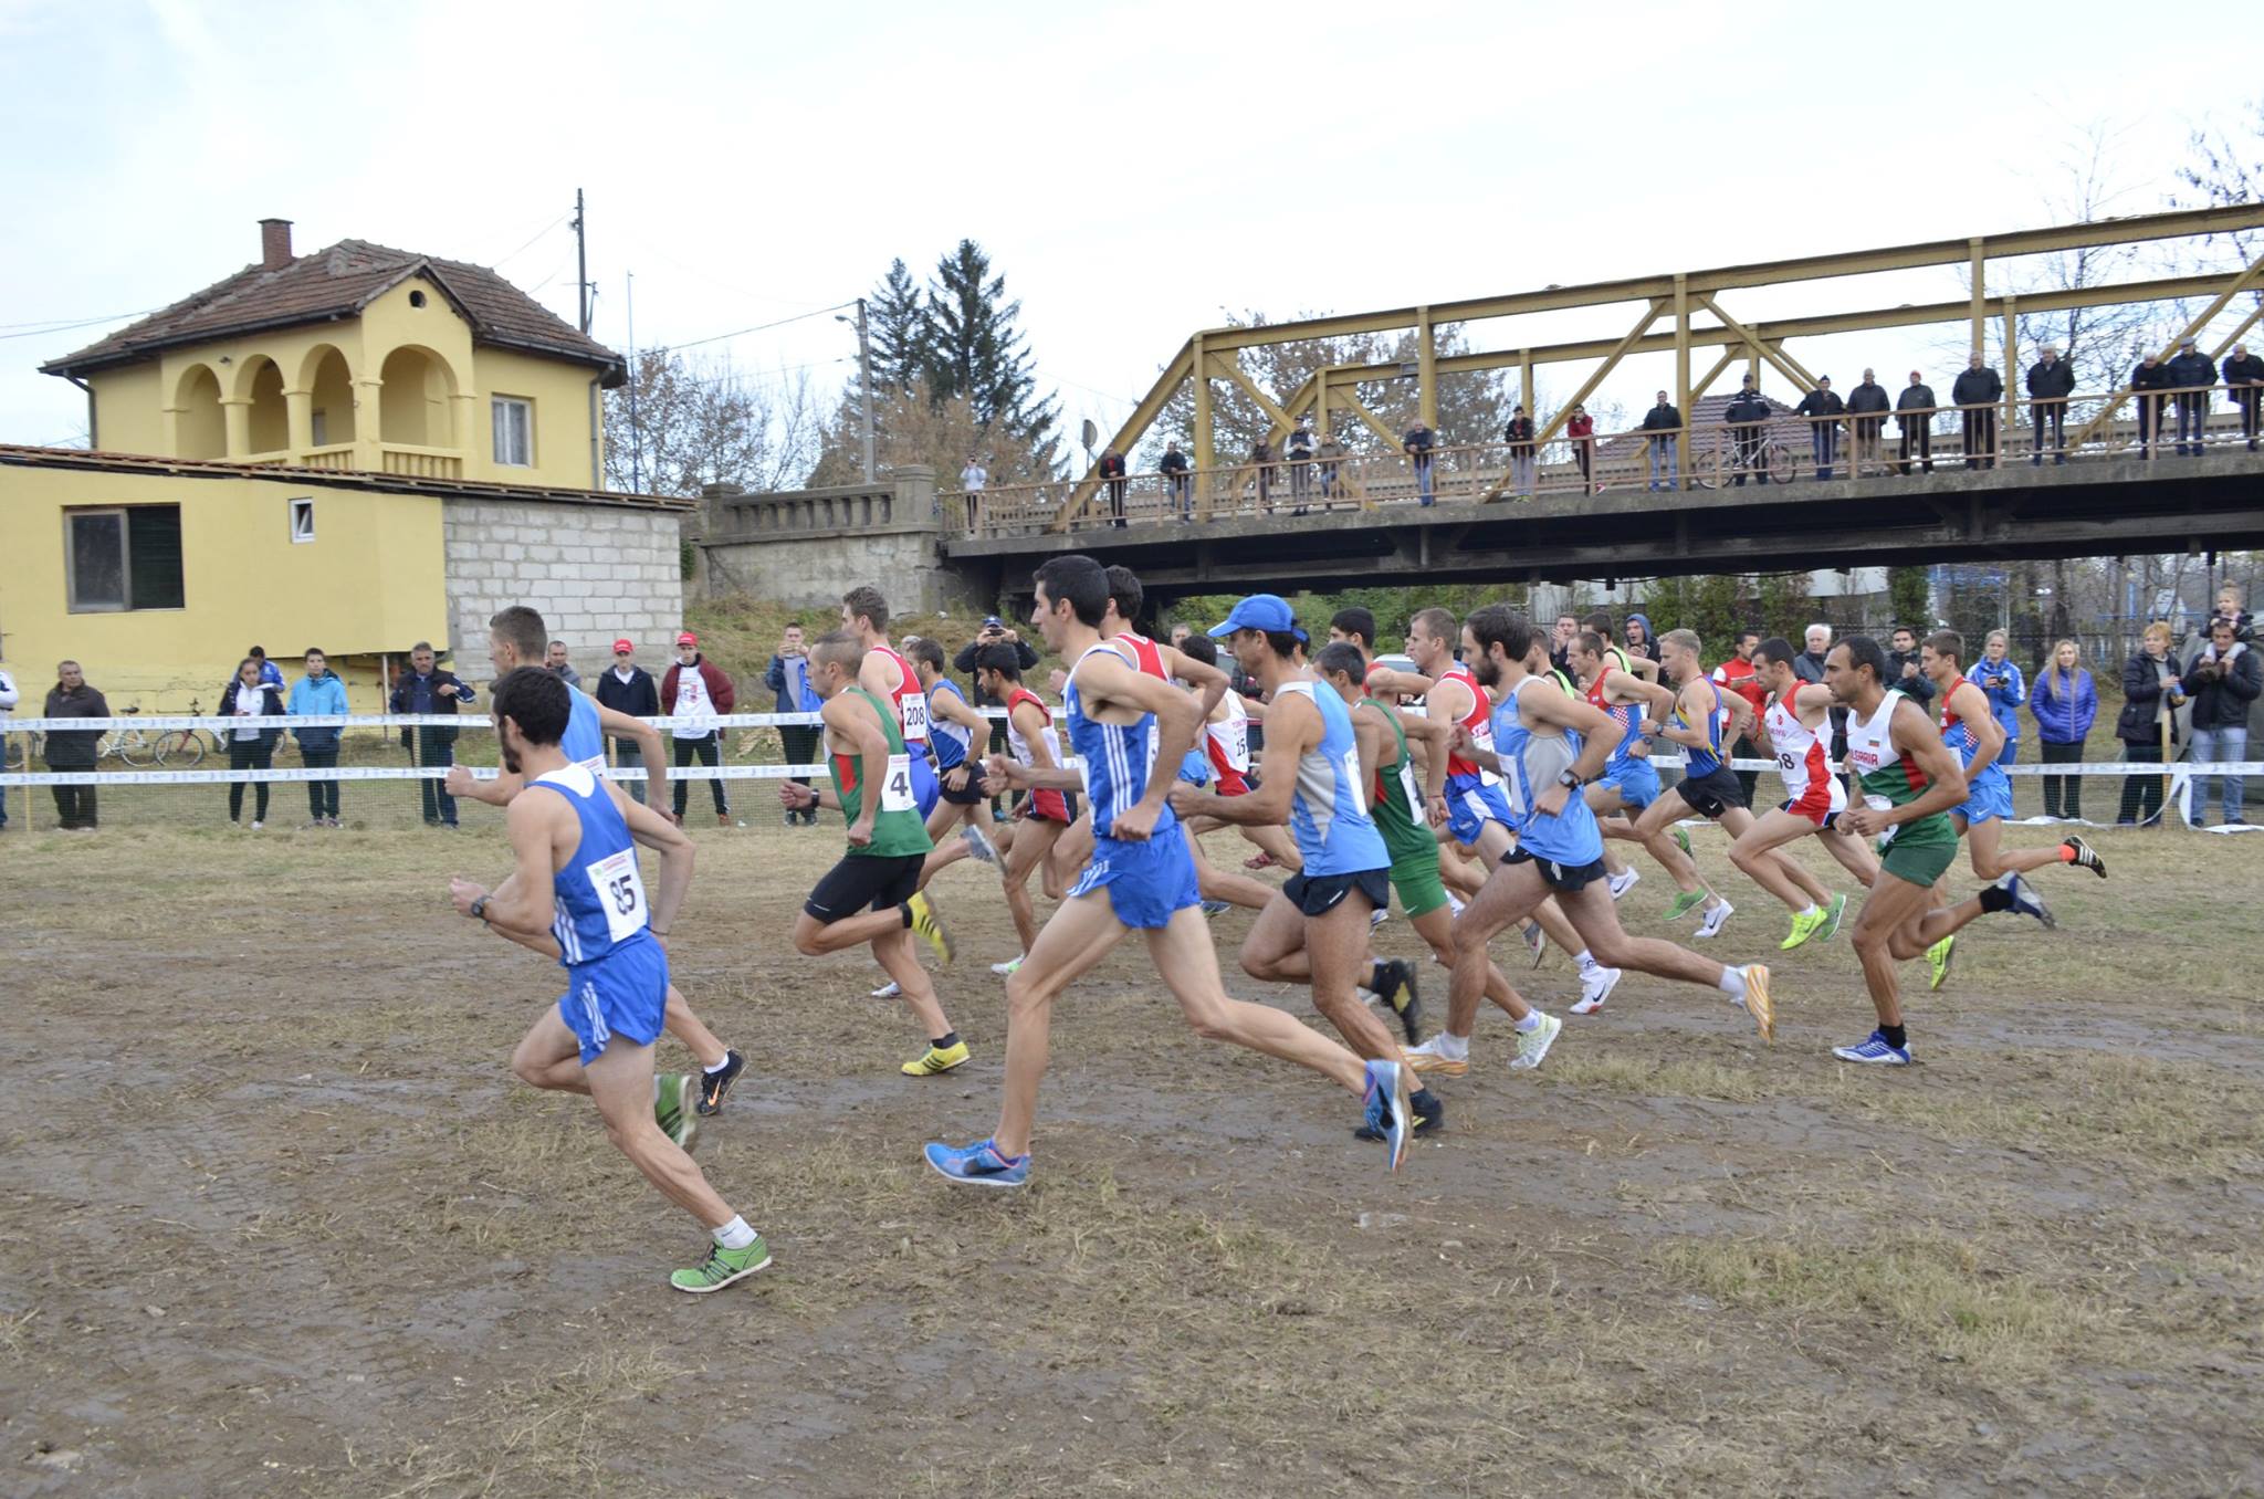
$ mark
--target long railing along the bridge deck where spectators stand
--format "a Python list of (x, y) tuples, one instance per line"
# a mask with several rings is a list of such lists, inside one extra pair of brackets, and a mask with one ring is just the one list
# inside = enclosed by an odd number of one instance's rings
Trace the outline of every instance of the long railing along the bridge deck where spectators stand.
[[(2060, 401), (2015, 396), (1902, 412), (1800, 414), (1770, 408), (1757, 423), (1723, 419), (1664, 430), (1560, 432), (1535, 444), (1433, 446), (1426, 464), (1406, 453), (1318, 451), (1311, 460), (1272, 457), (1100, 480), (1091, 507), (1069, 530), (1297, 519), (1383, 505), (1499, 503), (1607, 489), (1714, 489), (1759, 482), (1764, 476), (1775, 482), (1884, 480), (1931, 471), (1933, 464), (1995, 469), (2022, 460), (2042, 464), (2180, 457), (2198, 451), (2253, 453), (2259, 392), (2264, 387), (2257, 385), (2210, 385), (2135, 396), (2126, 387)], [(2198, 410), (2201, 426), (2198, 437), (2180, 444), (2178, 412), (2187, 403)], [(2053, 405), (2060, 412), (2056, 421)], [(976, 537), (1044, 532), (1055, 528), (1080, 482), (1084, 480), (944, 494), (946, 525), (955, 534)]]

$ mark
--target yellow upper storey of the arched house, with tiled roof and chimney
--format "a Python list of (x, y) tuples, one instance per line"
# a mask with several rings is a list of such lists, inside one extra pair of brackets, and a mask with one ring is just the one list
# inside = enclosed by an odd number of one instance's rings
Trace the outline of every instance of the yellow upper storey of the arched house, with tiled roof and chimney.
[(482, 265), (365, 240), (260, 260), (41, 365), (86, 389), (88, 446), (600, 489), (618, 353)]

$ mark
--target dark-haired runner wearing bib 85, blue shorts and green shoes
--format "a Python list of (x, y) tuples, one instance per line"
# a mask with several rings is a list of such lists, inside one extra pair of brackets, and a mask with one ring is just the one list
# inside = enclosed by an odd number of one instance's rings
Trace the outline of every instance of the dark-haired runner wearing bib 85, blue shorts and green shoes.
[(720, 1291), (767, 1266), (770, 1250), (652, 1116), (652, 1042), (668, 1012), (668, 953), (648, 931), (652, 903), (636, 842), (659, 851), (659, 906), (675, 910), (691, 879), (691, 840), (566, 759), (559, 740), (573, 688), (559, 677), (514, 668), (494, 684), (489, 709), (503, 763), (525, 777), (505, 815), (512, 874), (494, 890), (455, 879), (448, 894), (462, 915), (566, 969), (566, 994), (518, 1042), (512, 1071), (532, 1087), (595, 1100), (614, 1146), (713, 1241), (702, 1264), (668, 1284), (693, 1295)]

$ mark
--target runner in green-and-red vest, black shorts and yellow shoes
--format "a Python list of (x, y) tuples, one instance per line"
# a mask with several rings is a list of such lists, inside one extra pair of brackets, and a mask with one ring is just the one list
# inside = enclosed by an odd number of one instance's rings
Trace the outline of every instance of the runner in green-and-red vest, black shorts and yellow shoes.
[(928, 1037), (928, 1051), (901, 1071), (933, 1078), (967, 1062), (967, 1042), (944, 1019), (935, 985), (912, 956), (912, 933), (926, 937), (944, 962), (951, 962), (951, 937), (917, 890), (919, 867), (935, 845), (912, 802), (912, 754), (897, 734), (887, 700), (858, 684), (863, 661), (865, 648), (847, 629), (820, 636), (811, 648), (811, 691), (826, 700), (820, 720), (833, 790), (779, 781), (786, 811), (833, 806), (849, 824), (849, 851), (817, 881), (795, 917), (795, 951), (822, 958), (872, 944), (872, 956)]

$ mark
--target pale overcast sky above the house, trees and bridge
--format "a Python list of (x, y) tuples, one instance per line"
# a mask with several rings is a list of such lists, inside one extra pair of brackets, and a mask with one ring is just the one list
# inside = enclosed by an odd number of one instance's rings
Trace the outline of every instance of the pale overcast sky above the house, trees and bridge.
[[(79, 394), (36, 365), (254, 260), (265, 215), (301, 254), (496, 265), (571, 319), (584, 188), (616, 349), (629, 272), (636, 342), (686, 344), (971, 235), (1069, 428), (1107, 430), (1225, 310), (2049, 224), (2094, 120), (2112, 208), (2158, 211), (2192, 129), (2259, 88), (2237, 7), (1524, 9), (0, 0), (0, 439), (75, 439)], [(1915, 344), (1866, 337), (1818, 358), (1899, 385)], [(854, 337), (815, 317), (706, 353), (838, 383)]]

